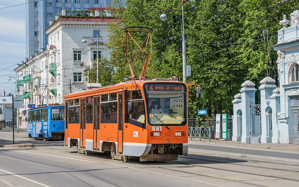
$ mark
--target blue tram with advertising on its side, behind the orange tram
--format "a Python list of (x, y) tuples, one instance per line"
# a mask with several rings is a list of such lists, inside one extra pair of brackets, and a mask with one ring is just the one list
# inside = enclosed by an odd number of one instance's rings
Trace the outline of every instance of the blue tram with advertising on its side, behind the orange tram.
[(64, 140), (64, 105), (48, 105), (30, 109), (27, 134), (32, 139)]

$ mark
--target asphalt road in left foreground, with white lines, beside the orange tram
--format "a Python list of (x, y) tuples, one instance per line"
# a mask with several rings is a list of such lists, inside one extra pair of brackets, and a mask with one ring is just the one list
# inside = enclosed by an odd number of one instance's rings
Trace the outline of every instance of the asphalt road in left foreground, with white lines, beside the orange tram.
[[(85, 156), (79, 155), (75, 149), (65, 154), (65, 149), (72, 149), (58, 147), (60, 142), (36, 143), (38, 144), (45, 147), (0, 148), (0, 179), (22, 187), (200, 185), (188, 180), (124, 167), (122, 161), (113, 161), (114, 165), (103, 163), (105, 158), (109, 162), (112, 161), (109, 154), (93, 153)], [(46, 147), (50, 150), (46, 150)], [(101, 155), (101, 158), (98, 155)]]

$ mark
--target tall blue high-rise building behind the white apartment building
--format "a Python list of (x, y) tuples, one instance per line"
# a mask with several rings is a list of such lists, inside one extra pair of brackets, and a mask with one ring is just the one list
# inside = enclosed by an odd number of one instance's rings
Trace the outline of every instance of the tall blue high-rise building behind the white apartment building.
[(105, 8), (109, 2), (112, 0), (26, 0), (26, 58), (39, 53), (40, 48), (46, 48), (48, 35), (45, 30), (49, 27), (50, 20), (54, 20), (56, 14), (60, 15), (62, 9)]

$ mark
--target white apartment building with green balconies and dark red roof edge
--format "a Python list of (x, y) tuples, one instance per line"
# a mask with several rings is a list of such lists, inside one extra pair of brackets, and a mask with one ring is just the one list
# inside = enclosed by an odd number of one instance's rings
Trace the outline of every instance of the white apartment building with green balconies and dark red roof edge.
[[(22, 111), (28, 110), (30, 104), (35, 104), (35, 107), (64, 104), (65, 95), (90, 86), (84, 72), (92, 68), (96, 60), (97, 33), (100, 35), (100, 57), (109, 59), (110, 51), (105, 42), (109, 34), (107, 24), (113, 17), (100, 17), (99, 10), (92, 14), (95, 16), (77, 19), (66, 16), (63, 9), (62, 16), (57, 15), (54, 23), (51, 20), (45, 31), (48, 34), (47, 48), (41, 48), (39, 53), (30, 56), (15, 69), (20, 88), (18, 94), (24, 99), (23, 108), (19, 109), (19, 127), (27, 126), (26, 115)], [(86, 44), (81, 42), (83, 37)]]

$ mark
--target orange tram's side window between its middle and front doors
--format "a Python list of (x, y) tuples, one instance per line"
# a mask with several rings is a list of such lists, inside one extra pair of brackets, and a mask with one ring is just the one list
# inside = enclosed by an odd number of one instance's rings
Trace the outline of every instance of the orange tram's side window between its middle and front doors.
[(117, 123), (117, 93), (101, 95), (101, 123)]

